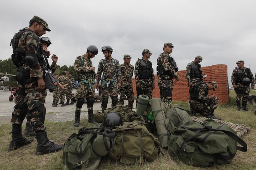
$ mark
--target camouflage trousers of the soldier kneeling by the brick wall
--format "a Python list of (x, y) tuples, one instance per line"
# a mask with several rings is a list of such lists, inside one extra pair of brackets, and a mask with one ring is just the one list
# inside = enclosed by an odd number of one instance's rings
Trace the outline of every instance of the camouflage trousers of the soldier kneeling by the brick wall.
[(209, 100), (209, 103), (207, 102), (208, 104), (206, 104), (206, 101), (190, 100), (190, 106), (193, 109), (202, 111), (204, 116), (206, 116), (209, 111), (208, 106), (210, 107), (210, 109), (215, 110), (218, 107), (219, 102), (218, 97), (213, 97)]

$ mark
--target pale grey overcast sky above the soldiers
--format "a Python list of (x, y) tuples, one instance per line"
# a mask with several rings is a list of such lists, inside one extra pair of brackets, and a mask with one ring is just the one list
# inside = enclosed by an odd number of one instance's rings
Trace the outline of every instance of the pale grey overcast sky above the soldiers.
[(95, 45), (97, 69), (100, 49), (109, 45), (120, 64), (130, 54), (135, 65), (149, 49), (156, 73), (157, 57), (170, 42), (179, 70), (200, 55), (202, 67), (227, 64), (230, 84), (238, 60), (255, 75), (255, 9), (256, 0), (1, 0), (0, 60), (11, 57), (11, 38), (37, 15), (51, 29), (43, 36), (51, 39), (48, 50), (60, 66), (73, 65)]

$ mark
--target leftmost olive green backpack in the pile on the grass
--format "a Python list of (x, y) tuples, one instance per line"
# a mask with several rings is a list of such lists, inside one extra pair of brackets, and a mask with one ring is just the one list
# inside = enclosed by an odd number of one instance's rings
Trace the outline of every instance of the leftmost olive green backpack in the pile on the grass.
[(70, 135), (64, 144), (64, 167), (68, 170), (97, 168), (102, 156), (113, 149), (114, 136), (113, 131), (101, 127), (101, 124), (81, 128), (78, 134)]

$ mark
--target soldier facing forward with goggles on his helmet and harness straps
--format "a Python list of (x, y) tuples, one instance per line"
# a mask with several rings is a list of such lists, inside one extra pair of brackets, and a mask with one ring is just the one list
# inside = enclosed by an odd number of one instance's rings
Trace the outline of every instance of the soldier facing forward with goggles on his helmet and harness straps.
[(117, 59), (113, 59), (112, 57), (112, 47), (103, 46), (101, 51), (103, 52), (105, 58), (99, 61), (96, 89), (99, 90), (99, 81), (101, 81), (101, 108), (103, 113), (107, 108), (109, 96), (112, 100), (112, 107), (116, 106), (118, 103), (117, 88), (120, 88), (121, 86), (121, 71), (119, 61)]

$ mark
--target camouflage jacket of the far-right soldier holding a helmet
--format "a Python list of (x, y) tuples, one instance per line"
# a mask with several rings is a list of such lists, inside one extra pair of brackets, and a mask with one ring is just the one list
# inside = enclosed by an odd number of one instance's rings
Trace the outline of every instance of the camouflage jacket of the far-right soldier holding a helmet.
[(239, 78), (240, 75), (238, 74), (238, 71), (241, 71), (243, 76), (244, 77), (248, 77), (250, 80), (251, 80), (251, 84), (254, 86), (255, 83), (254, 83), (254, 77), (253, 77), (253, 74), (252, 74), (252, 71), (249, 69), (249, 68), (246, 68), (244, 67), (243, 69), (242, 68), (238, 68), (236, 67), (233, 72), (232, 72), (232, 76), (231, 76), (231, 82), (232, 82), (232, 85), (237, 85), (237, 87), (243, 87), (245, 85), (241, 84), (241, 81), (238, 80), (238, 79), (241, 79)]

